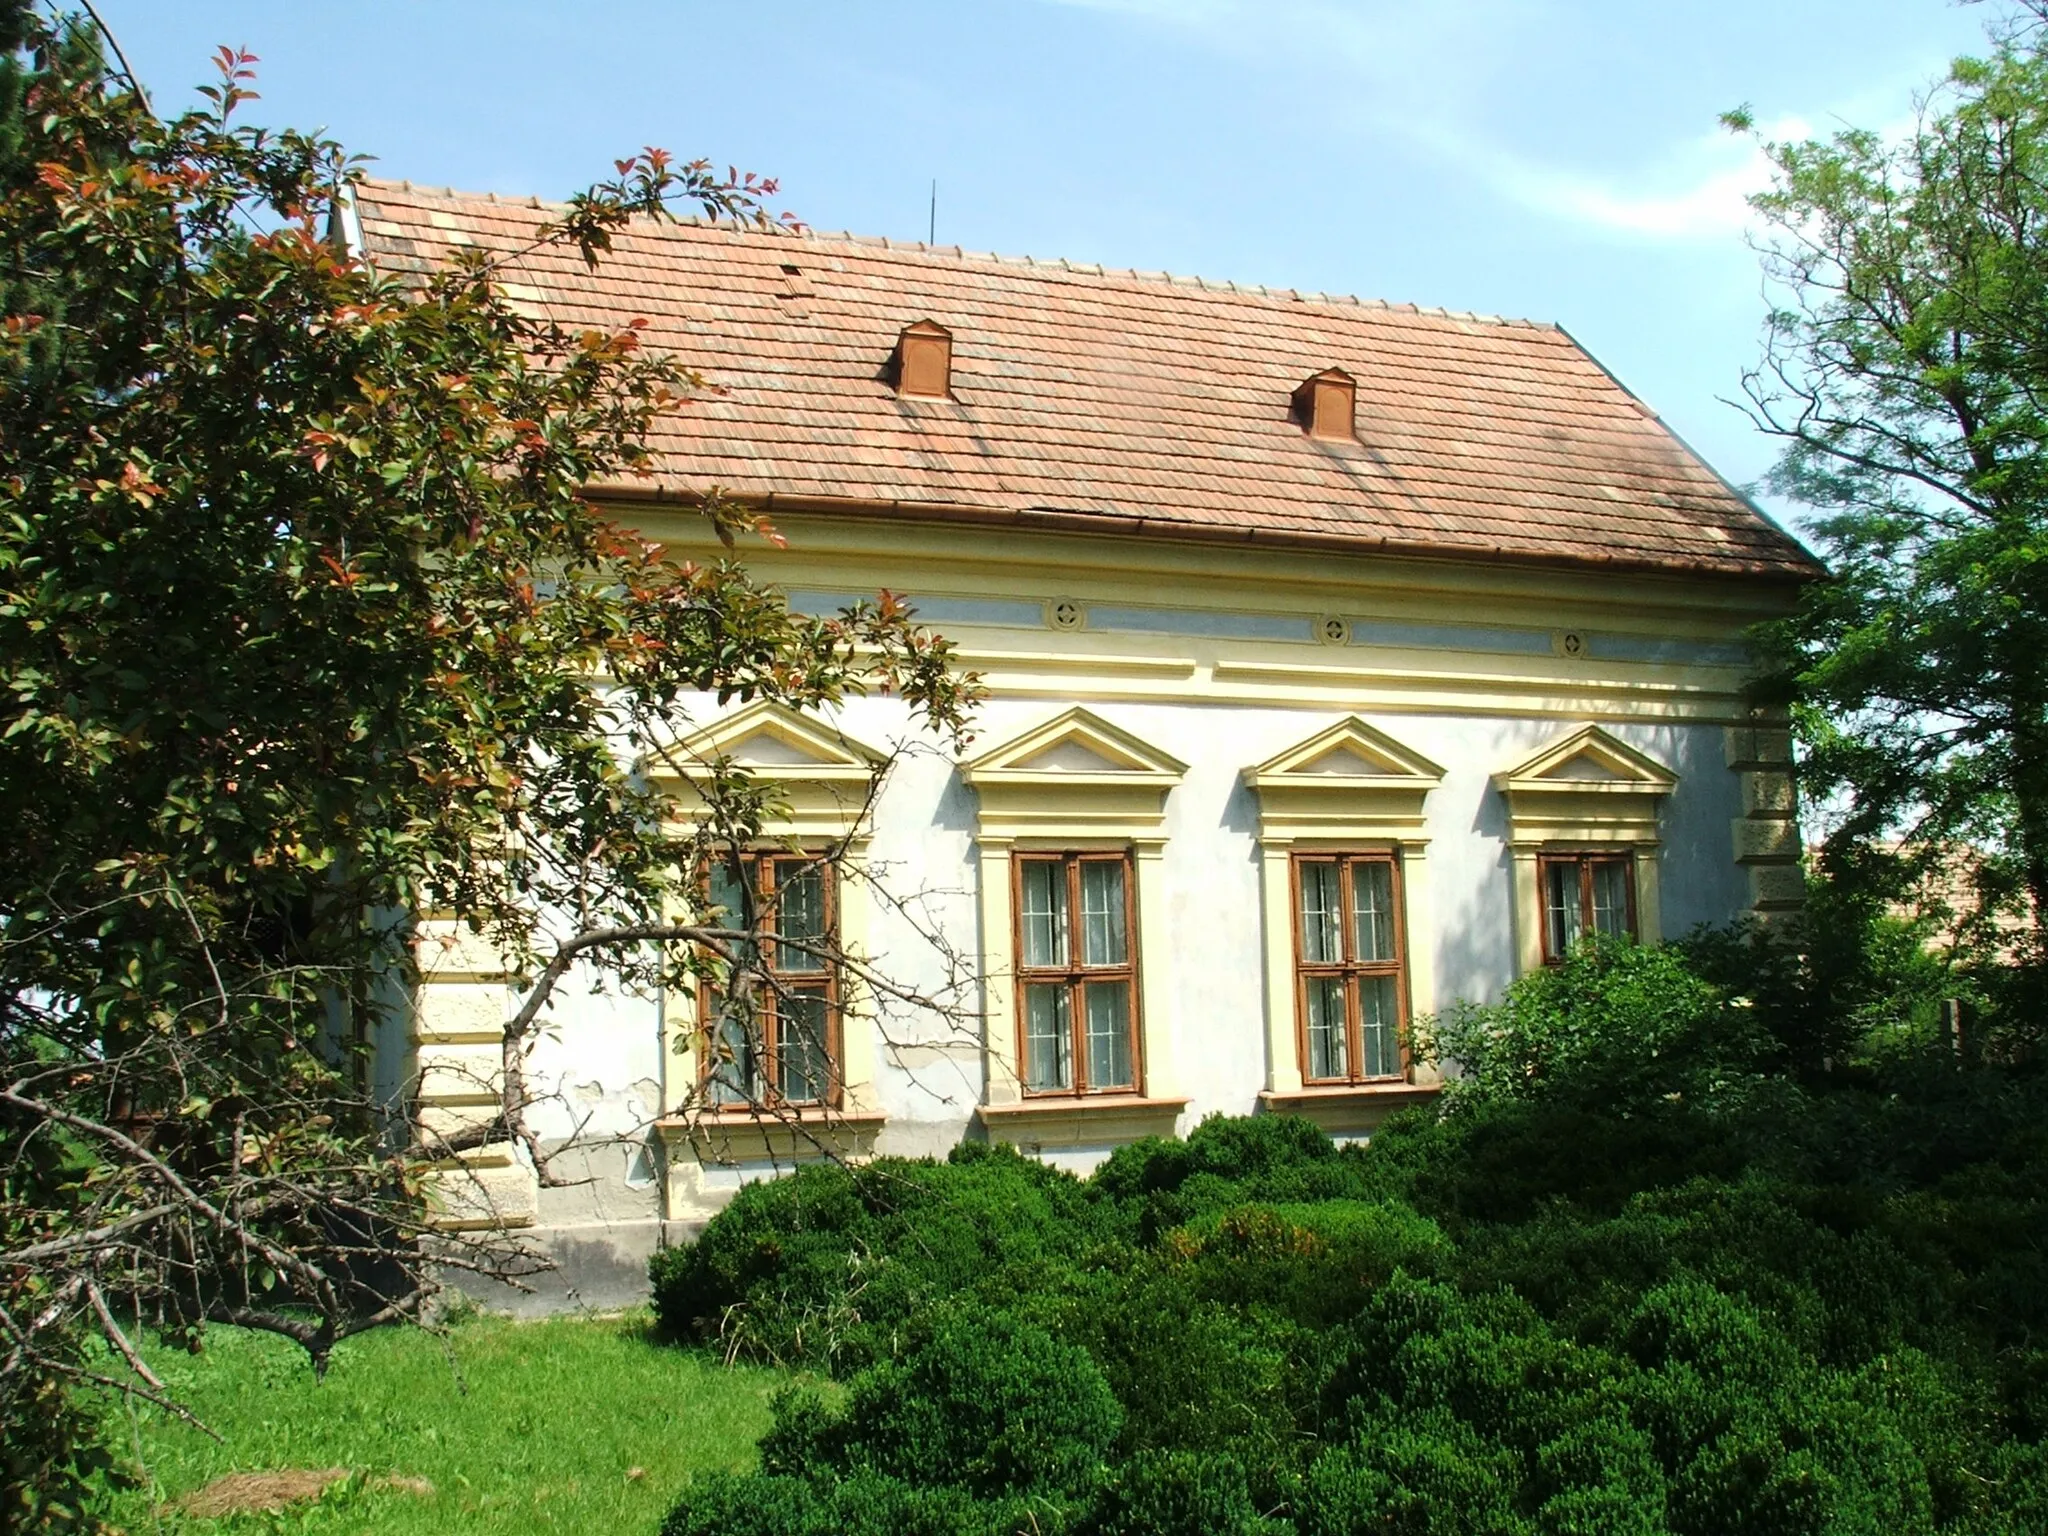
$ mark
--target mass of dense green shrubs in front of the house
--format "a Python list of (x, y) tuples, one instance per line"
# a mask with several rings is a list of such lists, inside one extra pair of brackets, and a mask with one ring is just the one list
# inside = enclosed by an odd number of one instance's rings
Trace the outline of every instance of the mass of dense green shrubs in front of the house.
[(2048, 1530), (2048, 1075), (1915, 1055), (1868, 975), (1886, 1049), (1817, 1057), (1817, 961), (1690, 954), (1452, 1016), (1468, 1077), (1370, 1145), (1210, 1116), (1087, 1182), (963, 1149), (745, 1190), (659, 1262), (664, 1325), (848, 1395), (670, 1530)]

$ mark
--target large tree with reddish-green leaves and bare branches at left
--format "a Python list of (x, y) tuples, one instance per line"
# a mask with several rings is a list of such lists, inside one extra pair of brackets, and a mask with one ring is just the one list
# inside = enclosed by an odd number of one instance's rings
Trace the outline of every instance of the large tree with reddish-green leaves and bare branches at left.
[[(735, 1010), (768, 985), (745, 940), (772, 913), (715, 913), (694, 879), (766, 793), (725, 764), (676, 827), (637, 772), (692, 700), (881, 684), (948, 733), (973, 684), (889, 594), (799, 616), (737, 561), (678, 565), (608, 522), (584, 487), (647, 473), (649, 424), (698, 381), (633, 328), (522, 315), (498, 287), (520, 252), (414, 283), (348, 258), (328, 229), (352, 162), (244, 123), (248, 55), (221, 49), (211, 104), (162, 121), (80, 27), (0, 20), (14, 1448), (68, 1384), (156, 1391), (127, 1319), (268, 1327), (324, 1360), (418, 1313), (426, 1169), (463, 1139), (362, 1081), (414, 913), (459, 913), (537, 977), (469, 1139), (539, 1157), (520, 1063), (569, 958), (713, 965)], [(596, 264), (635, 217), (766, 221), (772, 190), (649, 150), (543, 240)], [(727, 545), (756, 532), (717, 498), (707, 516)], [(10, 1466), (0, 1524), (74, 1507), (74, 1450)]]

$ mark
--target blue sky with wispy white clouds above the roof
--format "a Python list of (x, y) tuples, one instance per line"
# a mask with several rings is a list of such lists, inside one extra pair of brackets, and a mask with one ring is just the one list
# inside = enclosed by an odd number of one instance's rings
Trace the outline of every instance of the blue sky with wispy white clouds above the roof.
[(98, 0), (162, 109), (217, 43), (377, 172), (559, 197), (655, 143), (819, 229), (1554, 319), (1724, 475), (1753, 152), (1898, 123), (1948, 0)]

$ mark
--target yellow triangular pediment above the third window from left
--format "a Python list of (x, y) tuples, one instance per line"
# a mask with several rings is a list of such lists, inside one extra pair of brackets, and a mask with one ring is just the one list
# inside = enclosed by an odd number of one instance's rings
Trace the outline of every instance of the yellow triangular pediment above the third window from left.
[(1245, 768), (1268, 842), (1421, 842), (1423, 801), (1444, 770), (1350, 715)]

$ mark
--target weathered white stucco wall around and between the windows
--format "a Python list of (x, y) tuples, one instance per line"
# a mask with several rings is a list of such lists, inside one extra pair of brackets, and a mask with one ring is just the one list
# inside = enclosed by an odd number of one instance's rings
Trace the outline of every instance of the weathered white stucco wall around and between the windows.
[[(997, 698), (983, 707), (979, 739), (1016, 735), (1065, 705)], [(1149, 1083), (1190, 1100), (1182, 1130), (1223, 1110), (1247, 1114), (1268, 1085), (1264, 995), (1266, 924), (1288, 944), (1290, 915), (1260, 909), (1257, 805), (1241, 772), (1335, 723), (1337, 711), (1262, 709), (1188, 702), (1094, 702), (1114, 725), (1188, 764), (1165, 809), (1167, 844), (1159, 881), (1139, 899), (1163, 903), (1169, 952), (1141, 965), (1171, 975), (1169, 1016), (1149, 1020), (1167, 1036), (1174, 1081)], [(709, 719), (711, 715), (707, 713)], [(702, 723), (702, 719), (698, 723)], [(1364, 715), (1364, 719), (1446, 768), (1425, 803), (1434, 922), (1411, 932), (1436, 958), (1438, 1004), (1493, 999), (1513, 977), (1513, 918), (1505, 856), (1507, 815), (1491, 774), (1526, 758), (1573, 725), (1559, 719), (1483, 719), (1454, 715)], [(1628, 745), (1667, 764), (1679, 786), (1661, 809), (1661, 891), (1665, 936), (1694, 924), (1726, 922), (1747, 901), (1733, 862), (1731, 817), (1741, 813), (1741, 784), (1726, 768), (1722, 727), (1626, 721), (1602, 725)], [(975, 793), (961, 782), (950, 754), (909, 733), (907, 711), (893, 698), (848, 705), (840, 727), (877, 748), (911, 741), (879, 797), (868, 866), (907, 911), (872, 901), (868, 950), (879, 967), (918, 989), (938, 989), (948, 971), (918, 932), (930, 926), (965, 954), (983, 950), (975, 899)], [(553, 1022), (532, 1057), (532, 1079), (561, 1096), (537, 1116), (549, 1137), (631, 1137), (662, 1104), (664, 1075), (676, 1063), (662, 1051), (662, 1004), (596, 991), (584, 969), (563, 987)], [(885, 1010), (877, 1028), (877, 1096), (889, 1153), (942, 1153), (969, 1128), (983, 1096), (977, 1038), (903, 1008)], [(1010, 1030), (1012, 1020), (989, 1028)], [(1100, 1155), (1065, 1155), (1085, 1165)], [(625, 1155), (623, 1155), (625, 1157)]]

